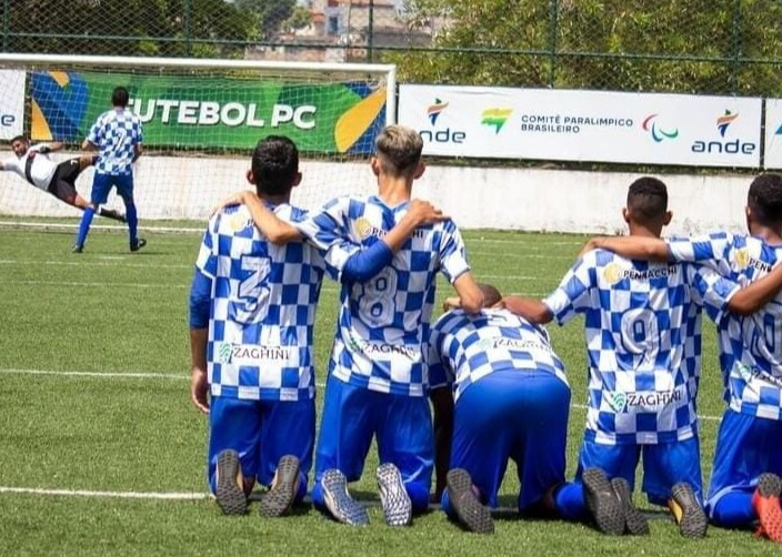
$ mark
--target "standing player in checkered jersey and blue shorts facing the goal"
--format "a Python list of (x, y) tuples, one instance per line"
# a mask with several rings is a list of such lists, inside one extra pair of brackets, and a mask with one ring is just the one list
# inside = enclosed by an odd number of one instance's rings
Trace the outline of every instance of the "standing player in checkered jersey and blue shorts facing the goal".
[(98, 150), (98, 161), (91, 202), (81, 217), (74, 253), (84, 250), (92, 216), (98, 205), (107, 202), (112, 188), (117, 188), (117, 193), (124, 203), (130, 251), (138, 252), (147, 245), (147, 241), (138, 236), (139, 216), (133, 202), (133, 162), (141, 156), (143, 133), (139, 117), (127, 110), (128, 101), (128, 90), (123, 87), (116, 88), (111, 94), (113, 109), (98, 117), (81, 145), (87, 151)]

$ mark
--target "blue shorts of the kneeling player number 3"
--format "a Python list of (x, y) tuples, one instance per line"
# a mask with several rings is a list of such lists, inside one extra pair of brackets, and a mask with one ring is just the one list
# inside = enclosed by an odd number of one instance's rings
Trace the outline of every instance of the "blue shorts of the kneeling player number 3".
[(312, 467), (315, 402), (245, 401), (213, 396), (209, 411), (209, 485), (214, 490), (218, 455), (239, 453), (244, 477), (271, 485), (281, 457), (299, 458), (304, 478)]

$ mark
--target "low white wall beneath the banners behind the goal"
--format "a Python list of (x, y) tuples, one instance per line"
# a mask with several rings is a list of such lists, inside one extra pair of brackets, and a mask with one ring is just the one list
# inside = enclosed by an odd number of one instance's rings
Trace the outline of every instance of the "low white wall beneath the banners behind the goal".
[[(204, 219), (214, 202), (245, 188), (247, 168), (243, 159), (142, 158), (136, 175), (140, 216)], [(374, 191), (367, 163), (307, 162), (302, 171), (304, 180), (293, 200), (305, 207), (340, 194)], [(89, 195), (91, 172), (84, 172), (77, 183), (84, 196)], [(624, 230), (621, 209), (628, 185), (638, 176), (621, 172), (430, 166), (413, 194), (441, 206), (464, 229), (614, 233)], [(750, 175), (682, 173), (659, 178), (668, 184), (674, 213), (669, 234), (744, 230)], [(121, 206), (118, 200), (110, 204)], [(79, 213), (16, 174), (0, 172), (0, 214)]]

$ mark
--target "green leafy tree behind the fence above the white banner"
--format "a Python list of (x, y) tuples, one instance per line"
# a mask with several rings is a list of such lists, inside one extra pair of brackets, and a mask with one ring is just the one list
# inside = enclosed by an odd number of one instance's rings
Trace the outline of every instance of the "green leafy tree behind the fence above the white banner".
[[(780, 94), (775, 0), (408, 0), (441, 51), (392, 53), (418, 82)], [(774, 63), (748, 62), (764, 59)]]

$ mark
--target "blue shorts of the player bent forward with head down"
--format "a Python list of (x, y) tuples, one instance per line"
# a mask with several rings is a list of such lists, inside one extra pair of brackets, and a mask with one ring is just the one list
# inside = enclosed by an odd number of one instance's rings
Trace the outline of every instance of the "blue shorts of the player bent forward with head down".
[(453, 416), (451, 468), (464, 468), (497, 507), (508, 459), (519, 470), (519, 509), (564, 482), (570, 387), (545, 372), (493, 372), (464, 391)]

